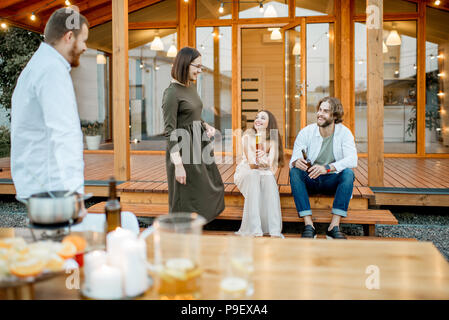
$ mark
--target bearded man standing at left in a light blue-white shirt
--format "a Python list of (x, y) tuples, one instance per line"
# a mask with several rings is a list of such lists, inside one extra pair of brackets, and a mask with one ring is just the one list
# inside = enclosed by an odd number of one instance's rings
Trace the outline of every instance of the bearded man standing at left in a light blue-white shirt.
[(84, 193), (83, 135), (70, 70), (86, 51), (89, 23), (56, 10), (44, 39), (17, 81), (11, 110), (11, 174), (17, 196)]

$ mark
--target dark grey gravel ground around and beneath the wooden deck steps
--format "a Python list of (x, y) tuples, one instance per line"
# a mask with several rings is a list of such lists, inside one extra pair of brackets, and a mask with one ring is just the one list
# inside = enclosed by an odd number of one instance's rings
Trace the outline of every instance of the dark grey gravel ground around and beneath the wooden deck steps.
[[(86, 201), (86, 206), (104, 201), (94, 198)], [(382, 207), (389, 209), (398, 219), (399, 224), (378, 225), (376, 236), (393, 238), (415, 238), (419, 241), (431, 241), (441, 254), (449, 261), (449, 208), (438, 207)], [(152, 218), (139, 218), (141, 227), (151, 225)], [(23, 227), (26, 225), (26, 207), (12, 196), (0, 197), (0, 227)], [(215, 220), (205, 226), (206, 230), (237, 231), (240, 221)], [(318, 233), (325, 233), (326, 225), (317, 225)], [(299, 223), (284, 223), (283, 233), (302, 232)], [(361, 236), (360, 225), (342, 224), (341, 230), (347, 235)]]

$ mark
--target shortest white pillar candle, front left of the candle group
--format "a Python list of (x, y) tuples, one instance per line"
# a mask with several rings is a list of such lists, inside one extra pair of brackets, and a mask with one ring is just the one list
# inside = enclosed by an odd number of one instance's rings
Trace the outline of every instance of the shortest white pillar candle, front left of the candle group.
[(123, 297), (120, 269), (102, 265), (92, 271), (90, 297), (95, 299), (120, 299)]

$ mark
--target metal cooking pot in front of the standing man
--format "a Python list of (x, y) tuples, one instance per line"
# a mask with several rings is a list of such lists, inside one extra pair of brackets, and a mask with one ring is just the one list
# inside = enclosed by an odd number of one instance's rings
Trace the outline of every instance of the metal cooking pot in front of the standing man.
[[(27, 206), (28, 218), (32, 223), (56, 224), (76, 220), (80, 213), (81, 201), (92, 197), (91, 193), (70, 194), (68, 190), (50, 191), (50, 193), (35, 193), (28, 199), (16, 197)], [(66, 194), (68, 195), (64, 196)]]

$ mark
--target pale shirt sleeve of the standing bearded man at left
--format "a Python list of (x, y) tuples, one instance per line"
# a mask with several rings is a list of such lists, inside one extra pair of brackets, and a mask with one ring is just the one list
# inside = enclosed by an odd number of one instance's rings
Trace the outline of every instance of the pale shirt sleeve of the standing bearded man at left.
[[(36, 95), (42, 110), (56, 165), (67, 190), (84, 182), (83, 141), (79, 115), (70, 75), (47, 68), (36, 83)], [(84, 193), (84, 187), (78, 188)]]

